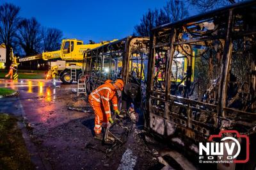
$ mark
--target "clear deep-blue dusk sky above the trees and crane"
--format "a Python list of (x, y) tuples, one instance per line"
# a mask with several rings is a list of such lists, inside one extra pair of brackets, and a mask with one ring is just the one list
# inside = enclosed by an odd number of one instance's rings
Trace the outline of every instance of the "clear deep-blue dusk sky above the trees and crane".
[(120, 39), (132, 35), (148, 8), (159, 9), (166, 0), (2, 0), (20, 6), (20, 17), (35, 17), (42, 26), (63, 31), (64, 38)]

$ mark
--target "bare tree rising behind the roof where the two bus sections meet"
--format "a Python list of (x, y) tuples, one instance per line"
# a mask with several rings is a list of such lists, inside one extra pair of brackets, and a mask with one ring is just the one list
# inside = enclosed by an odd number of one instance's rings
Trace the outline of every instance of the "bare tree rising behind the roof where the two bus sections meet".
[(183, 1), (170, 0), (160, 10), (148, 10), (143, 15), (140, 24), (134, 27), (134, 35), (149, 36), (153, 27), (184, 19), (188, 16), (188, 9)]

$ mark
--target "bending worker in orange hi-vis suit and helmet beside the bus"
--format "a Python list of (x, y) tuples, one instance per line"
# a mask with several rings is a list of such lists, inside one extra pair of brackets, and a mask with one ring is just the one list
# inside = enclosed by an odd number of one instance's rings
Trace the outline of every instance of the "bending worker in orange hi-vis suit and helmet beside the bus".
[(116, 93), (118, 90), (122, 91), (123, 88), (124, 81), (121, 79), (117, 79), (116, 81), (107, 80), (105, 84), (93, 90), (89, 95), (89, 102), (95, 114), (95, 139), (102, 140), (102, 127), (106, 128), (108, 122), (113, 123), (109, 101), (113, 104), (115, 114), (120, 114), (118, 111), (118, 98)]

